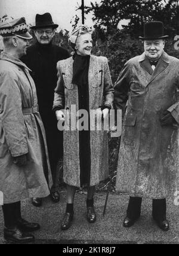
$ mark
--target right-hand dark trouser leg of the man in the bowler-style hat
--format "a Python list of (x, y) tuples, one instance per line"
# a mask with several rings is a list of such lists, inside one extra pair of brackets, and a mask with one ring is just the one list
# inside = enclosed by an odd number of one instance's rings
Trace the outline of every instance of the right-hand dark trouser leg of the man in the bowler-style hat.
[(153, 200), (152, 215), (153, 218), (157, 221), (166, 220), (166, 199)]

